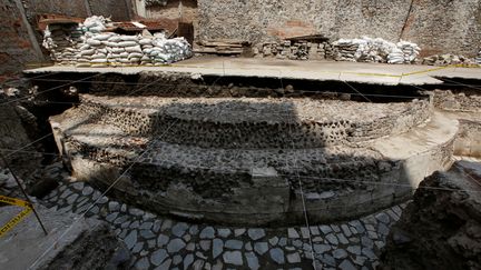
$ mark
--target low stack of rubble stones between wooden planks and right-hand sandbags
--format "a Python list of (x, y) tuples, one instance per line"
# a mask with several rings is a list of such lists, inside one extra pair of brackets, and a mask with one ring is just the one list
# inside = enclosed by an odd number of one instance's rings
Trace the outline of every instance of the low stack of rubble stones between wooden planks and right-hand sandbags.
[(321, 60), (332, 57), (330, 42), (291, 41), (261, 43), (254, 49), (255, 57), (291, 60)]

